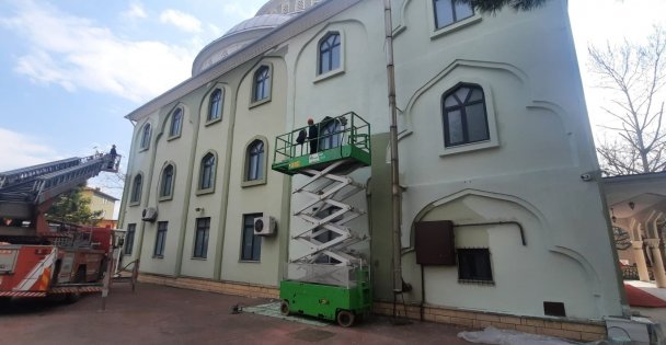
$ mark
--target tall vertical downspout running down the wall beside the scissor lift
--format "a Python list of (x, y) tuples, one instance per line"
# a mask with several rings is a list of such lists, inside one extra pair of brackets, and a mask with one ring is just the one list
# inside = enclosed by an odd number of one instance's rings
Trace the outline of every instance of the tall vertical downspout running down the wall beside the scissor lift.
[(389, 107), (391, 111), (391, 193), (393, 221), (393, 294), (402, 292), (402, 262), (400, 257), (401, 191), (398, 160), (398, 108), (395, 106), (395, 67), (393, 64), (393, 22), (391, 19), (391, 0), (383, 0), (383, 21), (387, 45), (387, 77), (389, 81)]

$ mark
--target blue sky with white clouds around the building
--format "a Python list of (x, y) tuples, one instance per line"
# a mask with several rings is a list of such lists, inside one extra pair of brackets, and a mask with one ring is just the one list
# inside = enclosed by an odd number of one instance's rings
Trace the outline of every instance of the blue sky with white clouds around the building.
[[(563, 0), (552, 0), (563, 1)], [(266, 0), (0, 0), (0, 171), (107, 151), (127, 156), (133, 110), (191, 76), (209, 42)], [(570, 0), (593, 124), (587, 45), (641, 41), (666, 0)], [(119, 191), (107, 191), (119, 196)]]

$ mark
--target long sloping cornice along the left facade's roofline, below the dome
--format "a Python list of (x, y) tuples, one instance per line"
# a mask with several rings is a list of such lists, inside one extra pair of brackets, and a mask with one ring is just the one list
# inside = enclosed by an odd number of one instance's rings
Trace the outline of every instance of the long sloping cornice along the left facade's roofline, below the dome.
[(203, 71), (200, 74), (192, 77), (182, 83), (175, 85), (173, 89), (162, 93), (161, 95), (152, 99), (148, 103), (141, 105), (134, 112), (127, 114), (125, 118), (134, 122), (139, 122), (146, 116), (159, 111), (162, 106), (175, 102), (187, 94), (192, 93), (202, 85), (214, 81), (220, 76), (238, 68), (239, 66), (252, 60), (256, 57), (264, 55), (273, 48), (276, 48), (280, 44), (287, 42), (289, 38), (295, 37), (311, 27), (314, 27), (340, 12), (355, 5), (361, 0), (335, 0), (324, 1), (321, 4), (313, 7), (310, 11), (303, 12), (301, 15), (294, 18), (278, 26), (275, 31), (266, 34), (266, 36), (259, 38), (254, 43), (248, 45), (244, 48), (229, 55), (225, 60), (220, 61), (216, 66)]

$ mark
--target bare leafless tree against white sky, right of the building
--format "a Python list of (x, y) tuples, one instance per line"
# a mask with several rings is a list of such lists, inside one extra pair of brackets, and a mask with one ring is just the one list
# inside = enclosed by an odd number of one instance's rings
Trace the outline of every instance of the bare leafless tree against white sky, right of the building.
[(601, 166), (610, 175), (628, 175), (666, 170), (666, 126), (664, 84), (666, 33), (655, 26), (647, 43), (604, 48), (588, 47), (593, 71), (611, 95), (602, 110), (612, 119), (602, 128), (615, 134), (597, 151)]

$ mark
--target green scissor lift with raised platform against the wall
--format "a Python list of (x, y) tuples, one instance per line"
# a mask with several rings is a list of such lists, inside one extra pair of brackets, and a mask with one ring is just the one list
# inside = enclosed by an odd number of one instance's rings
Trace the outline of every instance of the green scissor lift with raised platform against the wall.
[(335, 320), (351, 326), (371, 310), (369, 266), (351, 245), (368, 240), (346, 225), (365, 215), (349, 198), (366, 186), (349, 174), (370, 165), (370, 126), (355, 113), (317, 124), (318, 151), (309, 142), (296, 143), (298, 128), (276, 139), (273, 170), (306, 176), (294, 191), (300, 205), (294, 216), (307, 226), (291, 229), (301, 251), (287, 266), (280, 281), (280, 311)]

